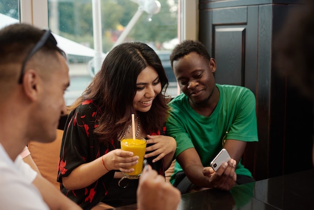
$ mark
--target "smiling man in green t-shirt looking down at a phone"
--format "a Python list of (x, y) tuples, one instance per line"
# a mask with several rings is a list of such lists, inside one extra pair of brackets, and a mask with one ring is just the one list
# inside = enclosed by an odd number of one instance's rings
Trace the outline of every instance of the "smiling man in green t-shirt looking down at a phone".
[[(171, 183), (186, 193), (254, 181), (241, 164), (246, 143), (258, 141), (252, 91), (216, 84), (216, 61), (199, 41), (177, 45), (170, 60), (183, 92), (169, 103), (167, 133), (177, 141)], [(231, 159), (215, 172), (210, 163), (222, 148)]]

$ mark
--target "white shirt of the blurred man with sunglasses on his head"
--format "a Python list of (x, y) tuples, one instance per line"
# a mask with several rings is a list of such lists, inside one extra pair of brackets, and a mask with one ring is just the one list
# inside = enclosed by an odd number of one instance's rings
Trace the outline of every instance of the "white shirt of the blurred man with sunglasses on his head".
[(32, 184), (37, 176), (19, 155), (13, 162), (0, 144), (0, 208), (49, 209), (38, 189)]

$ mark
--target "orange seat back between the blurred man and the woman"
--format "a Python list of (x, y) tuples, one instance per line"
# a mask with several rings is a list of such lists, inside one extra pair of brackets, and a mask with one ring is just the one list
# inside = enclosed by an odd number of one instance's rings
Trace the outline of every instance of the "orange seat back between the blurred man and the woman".
[(59, 182), (57, 182), (57, 171), (62, 135), (63, 131), (57, 130), (57, 138), (51, 143), (39, 143), (31, 141), (28, 144), (31, 156), (40, 173), (43, 177), (53, 183), (58, 189), (60, 189), (60, 185)]

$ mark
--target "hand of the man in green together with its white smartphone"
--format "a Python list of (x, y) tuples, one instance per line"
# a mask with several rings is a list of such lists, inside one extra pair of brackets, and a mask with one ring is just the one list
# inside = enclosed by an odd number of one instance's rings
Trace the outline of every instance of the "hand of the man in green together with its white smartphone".
[(230, 157), (226, 149), (222, 149), (211, 162), (211, 166), (204, 167), (203, 175), (209, 177), (213, 187), (229, 190), (237, 179), (235, 167), (236, 161)]

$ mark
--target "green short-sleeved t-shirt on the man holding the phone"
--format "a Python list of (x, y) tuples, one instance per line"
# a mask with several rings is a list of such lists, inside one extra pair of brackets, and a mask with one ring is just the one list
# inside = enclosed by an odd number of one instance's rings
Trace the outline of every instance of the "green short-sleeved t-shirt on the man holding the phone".
[[(166, 127), (167, 135), (177, 141), (176, 156), (181, 152), (195, 148), (203, 166), (210, 166), (212, 159), (223, 147), (223, 140), (234, 139), (246, 142), (258, 141), (255, 111), (255, 96), (249, 89), (234, 85), (216, 84), (220, 97), (218, 104), (209, 117), (195, 112), (188, 97), (182, 93), (170, 103), (170, 116)], [(176, 162), (170, 182), (182, 168)], [(241, 161), (236, 173), (251, 176)]]

